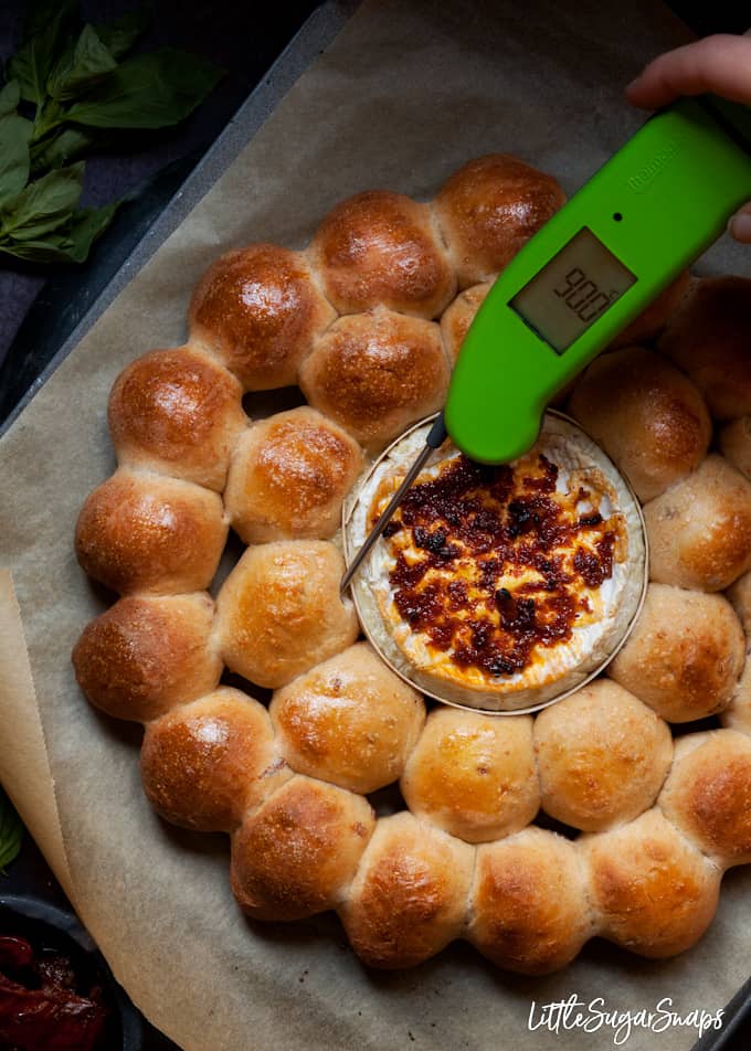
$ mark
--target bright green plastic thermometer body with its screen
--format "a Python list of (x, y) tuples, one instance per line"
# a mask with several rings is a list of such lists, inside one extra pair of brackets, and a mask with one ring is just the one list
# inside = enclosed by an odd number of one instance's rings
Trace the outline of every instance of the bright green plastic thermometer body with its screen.
[(444, 418), (507, 463), (550, 400), (751, 200), (751, 112), (685, 98), (644, 124), (503, 270), (462, 346)]

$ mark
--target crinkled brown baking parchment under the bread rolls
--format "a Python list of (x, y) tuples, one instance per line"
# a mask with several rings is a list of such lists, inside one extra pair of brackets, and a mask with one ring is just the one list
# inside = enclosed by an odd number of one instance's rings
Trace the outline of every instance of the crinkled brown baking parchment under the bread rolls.
[[(207, 265), (251, 241), (303, 246), (359, 190), (427, 199), (494, 150), (572, 192), (643, 119), (623, 86), (688, 36), (649, 0), (370, 0), (0, 442), (0, 563), (12, 574), (0, 577), (0, 777), (119, 980), (188, 1051), (606, 1048), (613, 1027), (595, 1016), (593, 1032), (569, 1030), (554, 1012), (548, 1026), (543, 1006), (602, 997), (602, 1011), (633, 1016), (668, 997), (681, 1016), (711, 1013), (748, 977), (742, 869), (684, 955), (647, 962), (594, 942), (543, 979), (504, 974), (462, 943), (412, 970), (372, 973), (331, 916), (251, 925), (229, 890), (225, 837), (152, 814), (140, 728), (93, 711), (70, 663), (82, 627), (110, 601), (72, 543), (85, 496), (115, 467), (109, 386), (136, 355), (184, 340)], [(748, 269), (748, 252), (727, 238), (698, 267)], [(617, 1034), (623, 1045), (627, 1022)], [(634, 1025), (625, 1045), (673, 1051), (697, 1037), (690, 1026)]]

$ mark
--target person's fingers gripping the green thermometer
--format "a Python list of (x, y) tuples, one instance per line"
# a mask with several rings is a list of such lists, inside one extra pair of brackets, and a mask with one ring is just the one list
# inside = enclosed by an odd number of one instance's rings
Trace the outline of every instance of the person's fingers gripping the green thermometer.
[[(751, 31), (749, 31), (751, 32)], [(711, 92), (751, 106), (751, 36), (717, 34), (659, 55), (626, 88), (634, 106), (657, 109), (681, 95)], [(751, 201), (728, 224), (737, 241), (751, 244)]]

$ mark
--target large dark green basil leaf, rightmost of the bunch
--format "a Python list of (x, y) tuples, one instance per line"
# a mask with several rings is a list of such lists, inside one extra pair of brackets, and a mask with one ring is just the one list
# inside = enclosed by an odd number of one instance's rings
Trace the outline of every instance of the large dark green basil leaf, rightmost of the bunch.
[(94, 128), (163, 128), (192, 113), (223, 75), (203, 59), (162, 47), (124, 62), (66, 118)]

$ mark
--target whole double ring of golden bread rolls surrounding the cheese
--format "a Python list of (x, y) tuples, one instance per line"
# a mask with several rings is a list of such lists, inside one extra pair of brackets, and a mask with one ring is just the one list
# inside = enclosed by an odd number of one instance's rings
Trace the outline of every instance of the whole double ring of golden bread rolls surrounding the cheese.
[[(367, 192), (303, 251), (222, 255), (188, 342), (116, 379), (118, 468), (76, 528), (83, 569), (120, 597), (84, 628), (75, 673), (145, 725), (156, 810), (229, 834), (247, 916), (336, 910), (373, 967), (456, 938), (528, 975), (597, 935), (668, 956), (710, 923), (724, 870), (751, 862), (751, 280), (681, 275), (570, 392), (652, 548), (648, 599), (605, 675), (536, 718), (426, 718), (339, 595), (337, 522), (367, 456), (440, 407), (491, 279), (562, 202), (491, 155), (427, 204)], [(311, 407), (246, 417), (244, 392), (295, 383)], [(713, 421), (724, 455), (708, 452)], [(230, 527), (251, 546), (214, 601)], [(723, 729), (674, 747), (670, 722), (706, 716)], [(368, 795), (394, 783), (405, 809), (377, 816)]]

